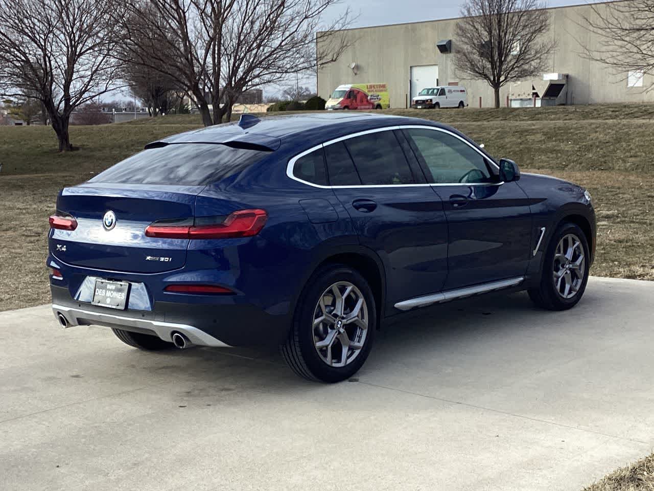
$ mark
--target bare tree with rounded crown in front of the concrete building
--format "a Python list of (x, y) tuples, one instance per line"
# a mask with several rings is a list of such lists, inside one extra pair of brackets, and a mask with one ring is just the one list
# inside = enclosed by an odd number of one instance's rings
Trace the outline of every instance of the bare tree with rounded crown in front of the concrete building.
[(483, 79), (495, 93), (508, 82), (538, 75), (555, 47), (549, 14), (539, 0), (467, 0), (455, 27), (456, 68)]

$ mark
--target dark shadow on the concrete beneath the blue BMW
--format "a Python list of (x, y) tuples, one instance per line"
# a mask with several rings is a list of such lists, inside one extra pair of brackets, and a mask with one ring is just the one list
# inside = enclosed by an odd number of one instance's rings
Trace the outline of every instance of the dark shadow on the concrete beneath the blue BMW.
[[(582, 304), (577, 308), (593, 308), (593, 296), (587, 295)], [(465, 350), (468, 343), (510, 338), (530, 329), (543, 329), (543, 325), (557, 329), (557, 319), (562, 319), (562, 313), (536, 308), (526, 293), (490, 294), (423, 308), (397, 321), (388, 321), (377, 331), (370, 358), (355, 377), (370, 370), (381, 375), (385, 370), (392, 371), (387, 361), (411, 363), (414, 357), (451, 355), (453, 351)], [(275, 348), (190, 348), (160, 354), (126, 350), (122, 355), (123, 363), (130, 363), (131, 359), (132, 365), (148, 373), (170, 373), (194, 386), (238, 386), (250, 390), (321, 386), (295, 376)]]

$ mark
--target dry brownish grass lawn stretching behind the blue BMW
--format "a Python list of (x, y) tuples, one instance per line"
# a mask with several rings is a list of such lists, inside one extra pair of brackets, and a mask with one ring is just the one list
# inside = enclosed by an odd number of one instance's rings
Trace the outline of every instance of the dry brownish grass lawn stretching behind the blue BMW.
[[(441, 120), (525, 171), (587, 187), (598, 213), (591, 273), (654, 280), (654, 105), (384, 112)], [(58, 154), (51, 128), (0, 126), (0, 310), (50, 300), (47, 217), (62, 187), (85, 181), (148, 141), (199, 127), (195, 115), (72, 126), (79, 150)]]

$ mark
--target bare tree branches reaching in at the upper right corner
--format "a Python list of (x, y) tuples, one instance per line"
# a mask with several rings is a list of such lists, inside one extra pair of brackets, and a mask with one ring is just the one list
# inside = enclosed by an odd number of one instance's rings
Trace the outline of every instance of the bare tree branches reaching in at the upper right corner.
[[(615, 68), (654, 74), (654, 0), (628, 0), (590, 5), (580, 23), (600, 43), (583, 46), (588, 58)], [(642, 76), (642, 75), (641, 75)]]

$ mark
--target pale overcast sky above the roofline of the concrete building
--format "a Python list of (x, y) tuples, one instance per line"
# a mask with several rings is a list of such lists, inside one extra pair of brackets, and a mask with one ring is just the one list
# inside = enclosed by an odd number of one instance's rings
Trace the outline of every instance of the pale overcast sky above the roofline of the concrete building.
[[(354, 14), (359, 15), (353, 27), (366, 27), (458, 17), (462, 3), (464, 0), (343, 0), (343, 3), (335, 6), (334, 9), (341, 11), (344, 7), (350, 7)], [(587, 0), (546, 1), (547, 7), (581, 3), (591, 2)]]

